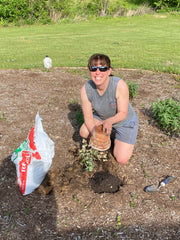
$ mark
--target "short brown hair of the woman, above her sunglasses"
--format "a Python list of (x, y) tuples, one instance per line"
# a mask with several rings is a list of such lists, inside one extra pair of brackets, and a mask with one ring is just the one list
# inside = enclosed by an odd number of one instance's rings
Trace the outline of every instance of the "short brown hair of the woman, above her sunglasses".
[(101, 53), (95, 53), (89, 58), (89, 61), (88, 61), (89, 70), (91, 70), (92, 66), (96, 66), (98, 61), (100, 61), (100, 64), (102, 66), (111, 68), (111, 60), (109, 59), (109, 57), (107, 55), (104, 55)]

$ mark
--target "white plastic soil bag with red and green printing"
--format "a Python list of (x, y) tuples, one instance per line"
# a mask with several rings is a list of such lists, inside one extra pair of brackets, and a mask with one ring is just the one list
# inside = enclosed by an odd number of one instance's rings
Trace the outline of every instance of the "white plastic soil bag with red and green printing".
[(44, 132), (39, 113), (26, 141), (15, 150), (17, 182), (23, 195), (30, 194), (43, 181), (54, 157), (54, 142)]

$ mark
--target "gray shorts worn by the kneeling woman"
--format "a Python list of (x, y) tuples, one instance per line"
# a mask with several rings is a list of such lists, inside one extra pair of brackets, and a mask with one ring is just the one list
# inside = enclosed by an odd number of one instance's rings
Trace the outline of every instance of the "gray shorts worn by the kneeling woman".
[(113, 128), (113, 130), (115, 132), (115, 139), (134, 145), (138, 133), (137, 115), (134, 113), (134, 116), (127, 123), (119, 128)]

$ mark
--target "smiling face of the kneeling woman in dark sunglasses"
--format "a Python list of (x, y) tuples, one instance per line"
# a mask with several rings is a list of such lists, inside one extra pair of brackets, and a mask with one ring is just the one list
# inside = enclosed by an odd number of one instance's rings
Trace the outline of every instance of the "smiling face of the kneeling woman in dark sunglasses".
[[(96, 67), (101, 67), (102, 65), (100, 62), (97, 62)], [(107, 81), (109, 81), (109, 75), (111, 74), (112, 69), (109, 68), (105, 72), (101, 72), (99, 68), (95, 72), (91, 72), (91, 79), (95, 83), (95, 85), (98, 86), (103, 86), (106, 85)]]

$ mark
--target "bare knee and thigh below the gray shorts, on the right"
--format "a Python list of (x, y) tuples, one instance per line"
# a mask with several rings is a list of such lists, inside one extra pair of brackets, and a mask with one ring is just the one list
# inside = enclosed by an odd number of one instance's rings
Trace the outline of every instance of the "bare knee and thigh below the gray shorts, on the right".
[(114, 140), (114, 157), (120, 164), (125, 164), (133, 154), (134, 145)]

